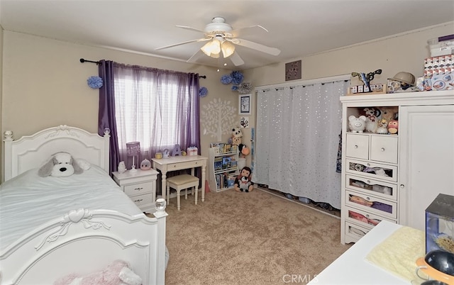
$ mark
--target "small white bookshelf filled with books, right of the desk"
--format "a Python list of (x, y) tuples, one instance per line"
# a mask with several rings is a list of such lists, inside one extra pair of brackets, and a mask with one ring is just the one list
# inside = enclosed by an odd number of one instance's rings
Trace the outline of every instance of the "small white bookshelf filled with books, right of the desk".
[(225, 147), (212, 144), (209, 151), (209, 185), (211, 191), (220, 192), (233, 188), (238, 176), (238, 146)]

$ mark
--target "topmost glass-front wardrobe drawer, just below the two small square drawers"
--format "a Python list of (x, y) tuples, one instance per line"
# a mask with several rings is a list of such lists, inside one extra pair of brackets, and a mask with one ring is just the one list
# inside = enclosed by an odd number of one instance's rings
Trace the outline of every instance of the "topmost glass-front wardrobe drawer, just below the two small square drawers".
[(347, 159), (346, 162), (346, 172), (348, 173), (358, 174), (372, 179), (397, 181), (397, 166), (351, 159)]

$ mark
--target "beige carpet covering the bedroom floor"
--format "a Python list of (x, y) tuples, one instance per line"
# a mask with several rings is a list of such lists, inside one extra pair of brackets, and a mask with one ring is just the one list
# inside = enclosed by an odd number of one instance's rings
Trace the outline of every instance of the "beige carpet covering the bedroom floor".
[(198, 205), (182, 196), (180, 211), (176, 203), (167, 207), (167, 285), (301, 283), (350, 247), (338, 218), (259, 189), (206, 193)]

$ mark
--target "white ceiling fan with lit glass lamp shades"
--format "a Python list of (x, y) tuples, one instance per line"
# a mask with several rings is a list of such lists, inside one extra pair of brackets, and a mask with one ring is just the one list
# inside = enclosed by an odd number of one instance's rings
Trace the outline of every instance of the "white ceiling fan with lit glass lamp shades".
[(217, 16), (213, 18), (211, 23), (205, 26), (204, 30), (199, 30), (197, 28), (192, 28), (188, 26), (177, 27), (204, 33), (204, 38), (188, 40), (186, 42), (176, 43), (173, 45), (166, 45), (165, 47), (157, 47), (155, 48), (155, 50), (163, 50), (168, 47), (185, 45), (187, 43), (208, 41), (208, 43), (201, 47), (200, 50), (197, 50), (197, 52), (194, 53), (194, 55), (192, 55), (192, 57), (190, 57), (189, 60), (187, 60), (187, 62), (194, 62), (194, 60), (196, 60), (197, 58), (197, 55), (199, 55), (199, 52), (201, 51), (204, 52), (205, 55), (208, 55), (209, 57), (213, 58), (220, 57), (222, 53), (222, 56), (224, 58), (230, 57), (231, 61), (233, 62), (233, 65), (235, 66), (244, 64), (244, 60), (238, 55), (237, 52), (235, 52), (235, 45), (241, 45), (243, 47), (248, 47), (253, 50), (265, 52), (269, 55), (279, 55), (279, 53), (281, 52), (279, 49), (275, 47), (267, 47), (266, 45), (261, 45), (260, 43), (251, 42), (250, 40), (236, 38), (236, 35), (238, 34), (239, 30), (247, 28), (261, 28), (262, 30), (268, 32), (266, 28), (263, 28), (262, 26), (259, 25), (233, 30), (232, 26), (226, 23), (226, 19)]

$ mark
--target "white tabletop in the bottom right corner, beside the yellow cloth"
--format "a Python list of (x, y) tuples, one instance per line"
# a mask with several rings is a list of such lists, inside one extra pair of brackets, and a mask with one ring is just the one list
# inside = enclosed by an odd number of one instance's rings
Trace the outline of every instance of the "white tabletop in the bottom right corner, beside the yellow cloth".
[(402, 225), (382, 220), (343, 255), (323, 269), (309, 284), (411, 284), (365, 259), (376, 245), (380, 245), (401, 227)]

